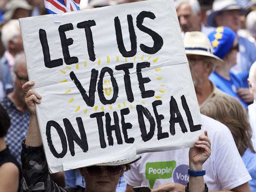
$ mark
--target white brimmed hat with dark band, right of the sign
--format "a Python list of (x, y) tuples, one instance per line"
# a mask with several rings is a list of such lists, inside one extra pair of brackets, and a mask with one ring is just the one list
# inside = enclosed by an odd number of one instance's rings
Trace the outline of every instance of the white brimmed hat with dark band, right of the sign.
[(222, 59), (213, 54), (211, 42), (202, 32), (186, 32), (183, 41), (186, 54), (202, 55), (214, 58), (217, 65), (224, 63)]

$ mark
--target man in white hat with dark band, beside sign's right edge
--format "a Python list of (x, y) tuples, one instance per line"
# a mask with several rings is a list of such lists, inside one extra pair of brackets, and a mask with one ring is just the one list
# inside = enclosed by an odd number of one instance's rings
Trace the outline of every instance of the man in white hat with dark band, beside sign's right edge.
[(187, 32), (184, 36), (184, 46), (198, 104), (202, 105), (204, 101), (218, 94), (225, 94), (208, 79), (215, 69), (215, 64), (223, 65), (223, 60), (213, 55), (208, 37), (202, 32)]

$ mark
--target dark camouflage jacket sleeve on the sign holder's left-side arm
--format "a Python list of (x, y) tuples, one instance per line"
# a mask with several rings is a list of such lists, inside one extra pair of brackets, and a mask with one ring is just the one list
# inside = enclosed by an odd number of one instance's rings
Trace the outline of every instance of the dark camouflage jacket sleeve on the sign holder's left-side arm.
[(78, 188), (62, 188), (52, 181), (43, 146), (31, 147), (22, 141), (22, 189), (24, 192), (82, 192)]

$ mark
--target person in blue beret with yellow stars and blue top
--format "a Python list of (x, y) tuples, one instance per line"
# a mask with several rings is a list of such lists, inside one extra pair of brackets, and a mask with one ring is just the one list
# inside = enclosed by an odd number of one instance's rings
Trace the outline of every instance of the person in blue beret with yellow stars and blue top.
[[(237, 63), (239, 51), (238, 37), (228, 27), (218, 27), (208, 35), (213, 46), (213, 54), (224, 60), (223, 65), (217, 65), (209, 76), (217, 88), (238, 99), (243, 106), (253, 102), (253, 96), (247, 85), (248, 73), (235, 74), (230, 69)], [(245, 79), (245, 82), (243, 81)]]

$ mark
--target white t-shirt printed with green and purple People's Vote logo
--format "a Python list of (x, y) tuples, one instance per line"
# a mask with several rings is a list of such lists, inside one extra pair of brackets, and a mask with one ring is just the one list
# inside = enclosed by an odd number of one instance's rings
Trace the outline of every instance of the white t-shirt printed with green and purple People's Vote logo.
[[(251, 179), (236, 148), (230, 130), (202, 115), (202, 123), (211, 139), (211, 156), (204, 163), (204, 182), (209, 190), (230, 190)], [(125, 181), (131, 186), (146, 185), (157, 188), (163, 183), (189, 181), (189, 148), (140, 154), (142, 158), (131, 164)]]

